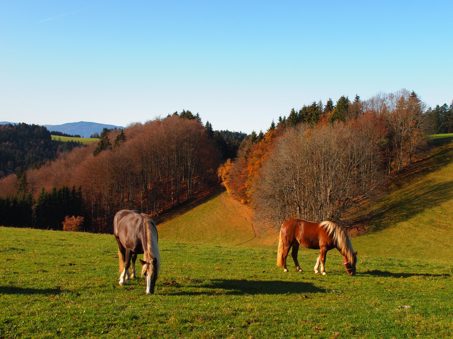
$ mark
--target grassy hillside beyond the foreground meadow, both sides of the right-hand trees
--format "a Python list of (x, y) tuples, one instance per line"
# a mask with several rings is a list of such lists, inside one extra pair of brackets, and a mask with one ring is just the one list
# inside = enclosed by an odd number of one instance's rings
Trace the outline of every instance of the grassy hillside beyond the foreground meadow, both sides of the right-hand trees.
[[(352, 240), (361, 256), (453, 259), (452, 138), (453, 134), (435, 136), (438, 146), (431, 155), (416, 162), (399, 179), (399, 186), (373, 202), (366, 225), (370, 231)], [(275, 230), (253, 227), (252, 212), (238, 207), (236, 200), (216, 193), (198, 206), (170, 213), (158, 225), (159, 234), (169, 240), (238, 245), (255, 229), (257, 236), (243, 245), (277, 245)]]

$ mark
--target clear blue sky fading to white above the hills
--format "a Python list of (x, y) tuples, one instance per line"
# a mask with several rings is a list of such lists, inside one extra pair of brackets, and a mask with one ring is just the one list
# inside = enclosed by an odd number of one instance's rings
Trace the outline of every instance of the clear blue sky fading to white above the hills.
[(0, 121), (189, 109), (267, 129), (313, 100), (453, 100), (453, 1), (0, 1)]

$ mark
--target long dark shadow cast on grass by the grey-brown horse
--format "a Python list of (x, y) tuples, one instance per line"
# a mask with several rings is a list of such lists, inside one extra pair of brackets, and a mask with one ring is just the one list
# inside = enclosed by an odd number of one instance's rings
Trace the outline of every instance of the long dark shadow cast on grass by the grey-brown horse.
[[(183, 287), (183, 285), (182, 285)], [(287, 294), (289, 293), (325, 293), (326, 290), (314, 286), (311, 282), (289, 282), (289, 281), (255, 281), (255, 280), (236, 280), (236, 279), (214, 279), (211, 283), (187, 286), (190, 288), (210, 288), (223, 291), (177, 291), (169, 292), (175, 295), (200, 295), (200, 294)]]

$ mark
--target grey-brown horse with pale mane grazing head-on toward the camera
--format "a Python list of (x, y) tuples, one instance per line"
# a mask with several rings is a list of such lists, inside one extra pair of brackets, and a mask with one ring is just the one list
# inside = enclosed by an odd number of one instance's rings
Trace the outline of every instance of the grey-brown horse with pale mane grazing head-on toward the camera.
[[(121, 210), (113, 219), (113, 235), (118, 242), (120, 261), (120, 285), (129, 278), (135, 278), (137, 254), (143, 254), (141, 275), (145, 276), (146, 294), (154, 294), (160, 269), (159, 246), (156, 224), (149, 215), (137, 210)], [(132, 259), (131, 275), (129, 275)]]

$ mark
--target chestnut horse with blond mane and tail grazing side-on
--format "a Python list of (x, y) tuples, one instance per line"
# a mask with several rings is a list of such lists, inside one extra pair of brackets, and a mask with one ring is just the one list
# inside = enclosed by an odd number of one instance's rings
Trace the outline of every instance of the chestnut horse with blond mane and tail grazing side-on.
[(314, 273), (319, 273), (318, 267), (321, 264), (321, 273), (323, 275), (327, 274), (324, 270), (327, 251), (337, 248), (343, 255), (343, 265), (346, 268), (347, 274), (356, 274), (357, 252), (354, 253), (351, 240), (346, 232), (337, 224), (331, 221), (312, 222), (303, 219), (291, 219), (284, 222), (280, 229), (277, 254), (277, 266), (283, 267), (284, 272), (288, 272), (288, 268), (286, 268), (286, 257), (288, 256), (290, 247), (293, 248), (291, 256), (294, 259), (296, 271), (302, 272), (299, 261), (297, 261), (299, 245), (312, 250), (321, 250), (314, 266)]

